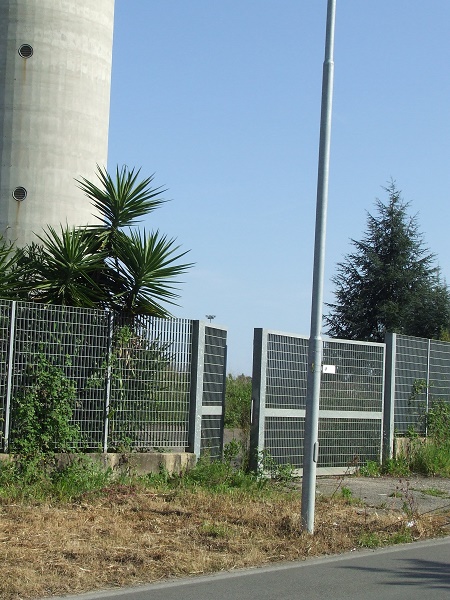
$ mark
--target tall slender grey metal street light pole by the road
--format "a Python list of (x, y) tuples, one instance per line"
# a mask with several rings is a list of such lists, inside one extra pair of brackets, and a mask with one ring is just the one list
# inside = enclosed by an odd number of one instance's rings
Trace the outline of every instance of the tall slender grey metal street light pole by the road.
[(325, 60), (322, 79), (319, 168), (317, 177), (316, 231), (311, 301), (311, 333), (306, 383), (305, 442), (302, 480), (302, 529), (314, 533), (316, 468), (319, 455), (319, 401), (322, 374), (322, 310), (325, 270), (325, 236), (330, 164), (331, 108), (333, 100), (333, 49), (336, 0), (328, 0)]

